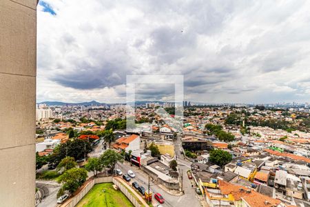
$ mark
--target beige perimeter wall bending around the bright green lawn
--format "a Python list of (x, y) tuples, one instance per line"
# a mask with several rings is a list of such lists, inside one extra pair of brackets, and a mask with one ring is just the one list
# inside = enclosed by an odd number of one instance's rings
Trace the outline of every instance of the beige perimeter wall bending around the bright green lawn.
[(74, 207), (76, 206), (76, 204), (79, 203), (79, 201), (81, 201), (81, 199), (83, 199), (83, 197), (88, 193), (88, 191), (90, 191), (90, 189), (92, 189), (95, 184), (111, 182), (121, 190), (121, 192), (127, 197), (127, 199), (132, 202), (135, 207), (141, 207), (141, 204), (139, 204), (139, 202), (136, 200), (136, 197), (134, 197), (129, 192), (129, 190), (127, 190), (127, 188), (125, 188), (125, 186), (121, 184), (120, 181), (114, 179), (113, 177), (98, 177), (96, 179), (90, 180), (77, 195), (66, 201), (64, 204), (61, 205), (61, 207)]

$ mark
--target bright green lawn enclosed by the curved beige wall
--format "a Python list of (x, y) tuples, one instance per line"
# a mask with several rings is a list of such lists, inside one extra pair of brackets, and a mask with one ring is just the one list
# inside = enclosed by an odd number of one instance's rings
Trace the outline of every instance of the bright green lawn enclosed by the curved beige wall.
[[(92, 207), (92, 206), (105, 206), (105, 207), (123, 207), (134, 206), (121, 190), (115, 190), (112, 183), (96, 184), (92, 189), (79, 201), (77, 207)], [(103, 193), (105, 190), (105, 193)]]

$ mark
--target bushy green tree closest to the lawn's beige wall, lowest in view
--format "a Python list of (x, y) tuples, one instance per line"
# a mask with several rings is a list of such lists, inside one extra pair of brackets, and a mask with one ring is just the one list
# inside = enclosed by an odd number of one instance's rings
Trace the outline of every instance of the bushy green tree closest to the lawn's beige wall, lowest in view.
[(63, 175), (57, 178), (57, 181), (63, 186), (61, 190), (69, 190), (70, 193), (74, 193), (87, 178), (87, 170), (84, 168), (72, 168), (63, 172)]

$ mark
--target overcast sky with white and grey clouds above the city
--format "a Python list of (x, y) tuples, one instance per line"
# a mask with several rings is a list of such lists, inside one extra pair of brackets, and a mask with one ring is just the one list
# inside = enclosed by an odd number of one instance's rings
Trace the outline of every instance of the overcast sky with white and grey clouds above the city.
[[(310, 102), (309, 8), (307, 0), (41, 0), (37, 101), (121, 103), (127, 75), (183, 75), (191, 101)], [(141, 99), (169, 101), (171, 86), (138, 89)]]

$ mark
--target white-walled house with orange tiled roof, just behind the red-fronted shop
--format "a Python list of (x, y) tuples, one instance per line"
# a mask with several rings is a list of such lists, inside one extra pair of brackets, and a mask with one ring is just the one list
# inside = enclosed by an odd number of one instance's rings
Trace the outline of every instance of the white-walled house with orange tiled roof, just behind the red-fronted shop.
[(138, 150), (140, 149), (140, 137), (138, 135), (131, 135), (130, 137), (116, 139), (113, 148), (118, 151), (125, 150), (126, 152)]

